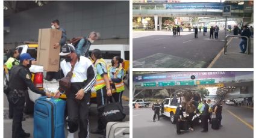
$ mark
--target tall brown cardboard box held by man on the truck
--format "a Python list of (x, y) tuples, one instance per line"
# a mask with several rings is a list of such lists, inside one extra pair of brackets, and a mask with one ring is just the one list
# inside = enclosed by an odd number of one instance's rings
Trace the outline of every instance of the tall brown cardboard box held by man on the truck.
[(60, 70), (60, 46), (54, 49), (54, 44), (60, 42), (61, 33), (58, 29), (39, 29), (37, 64), (45, 71)]

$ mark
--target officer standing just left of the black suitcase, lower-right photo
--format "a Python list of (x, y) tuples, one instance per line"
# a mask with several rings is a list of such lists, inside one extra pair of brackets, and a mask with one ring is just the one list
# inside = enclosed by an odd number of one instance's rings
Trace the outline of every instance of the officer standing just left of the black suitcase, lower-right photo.
[(202, 130), (201, 132), (208, 132), (208, 116), (209, 116), (209, 106), (206, 103), (206, 100), (202, 101), (202, 108), (201, 108), (201, 112), (202, 112), (202, 127), (204, 128), (204, 130)]

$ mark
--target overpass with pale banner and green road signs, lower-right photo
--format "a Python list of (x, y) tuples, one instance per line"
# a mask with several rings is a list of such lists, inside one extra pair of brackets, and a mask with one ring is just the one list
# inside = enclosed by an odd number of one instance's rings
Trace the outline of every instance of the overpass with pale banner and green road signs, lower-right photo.
[[(168, 71), (134, 74), (133, 97), (146, 89), (194, 89), (217, 87), (216, 94), (227, 98), (253, 97), (253, 71)], [(245, 87), (246, 92), (240, 93)], [(230, 91), (232, 90), (232, 91)], [(234, 93), (234, 94), (233, 94)], [(137, 95), (137, 94), (136, 94)]]

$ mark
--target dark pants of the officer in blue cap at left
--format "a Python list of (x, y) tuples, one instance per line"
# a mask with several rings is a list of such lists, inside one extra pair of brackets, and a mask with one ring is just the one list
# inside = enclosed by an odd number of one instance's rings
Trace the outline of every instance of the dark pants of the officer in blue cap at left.
[(8, 97), (11, 106), (13, 107), (13, 128), (12, 138), (22, 137), (25, 131), (22, 129), (23, 109), (25, 105), (25, 96), (23, 97)]

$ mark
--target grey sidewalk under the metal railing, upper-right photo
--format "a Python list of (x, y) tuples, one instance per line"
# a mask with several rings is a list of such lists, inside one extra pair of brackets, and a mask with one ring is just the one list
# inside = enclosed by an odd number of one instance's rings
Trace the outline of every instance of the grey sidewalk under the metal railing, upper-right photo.
[[(224, 55), (224, 49), (213, 59), (208, 68), (253, 68), (254, 67), (254, 38), (251, 38), (251, 54), (240, 52), (240, 38), (231, 38)], [(224, 47), (224, 46), (223, 46)], [(246, 51), (247, 53), (247, 51)]]

